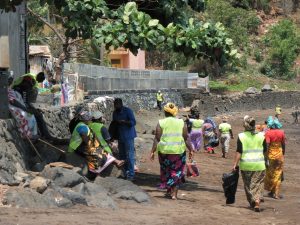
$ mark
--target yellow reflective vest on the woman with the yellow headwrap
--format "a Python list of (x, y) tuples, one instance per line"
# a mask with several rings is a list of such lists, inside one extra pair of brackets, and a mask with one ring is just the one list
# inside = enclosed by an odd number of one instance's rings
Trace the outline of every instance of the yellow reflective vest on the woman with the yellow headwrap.
[(185, 151), (185, 142), (182, 137), (184, 122), (175, 117), (168, 117), (159, 121), (162, 136), (157, 145), (162, 154), (182, 154)]

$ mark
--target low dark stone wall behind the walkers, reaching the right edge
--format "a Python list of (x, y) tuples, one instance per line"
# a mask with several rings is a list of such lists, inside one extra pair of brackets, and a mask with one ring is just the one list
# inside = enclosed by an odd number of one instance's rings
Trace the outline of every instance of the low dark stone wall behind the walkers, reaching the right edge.
[(251, 110), (274, 109), (277, 104), (284, 108), (300, 106), (300, 92), (262, 92), (246, 95), (195, 95), (194, 109), (203, 116), (215, 116), (231, 112), (247, 112)]

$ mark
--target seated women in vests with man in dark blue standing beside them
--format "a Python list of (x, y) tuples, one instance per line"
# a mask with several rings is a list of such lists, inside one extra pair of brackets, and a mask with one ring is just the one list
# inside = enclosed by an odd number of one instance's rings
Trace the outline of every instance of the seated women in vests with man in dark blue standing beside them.
[[(120, 98), (114, 100), (111, 133), (104, 125), (104, 115), (100, 111), (80, 111), (71, 120), (71, 139), (68, 152), (83, 157), (88, 165), (89, 179), (95, 179), (107, 166), (114, 163), (122, 168), (124, 178), (134, 180), (136, 120), (133, 111), (123, 106)], [(118, 141), (117, 155), (114, 151)], [(118, 159), (117, 159), (118, 158)]]

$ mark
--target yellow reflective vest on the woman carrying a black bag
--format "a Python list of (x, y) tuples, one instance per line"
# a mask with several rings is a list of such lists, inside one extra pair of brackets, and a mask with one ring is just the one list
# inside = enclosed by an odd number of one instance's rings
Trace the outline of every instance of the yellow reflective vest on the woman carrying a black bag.
[(262, 171), (266, 169), (263, 153), (264, 135), (262, 133), (252, 135), (246, 131), (239, 134), (243, 145), (240, 160), (240, 169), (244, 171)]

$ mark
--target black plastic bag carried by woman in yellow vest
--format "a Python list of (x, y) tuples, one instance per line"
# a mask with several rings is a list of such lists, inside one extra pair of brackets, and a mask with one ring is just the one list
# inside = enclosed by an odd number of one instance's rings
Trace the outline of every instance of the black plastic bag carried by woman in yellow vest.
[(223, 190), (226, 197), (226, 204), (233, 204), (235, 202), (235, 193), (239, 181), (239, 168), (230, 173), (224, 173), (222, 176)]

